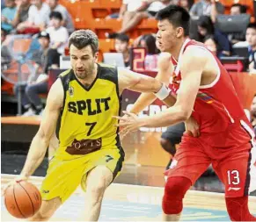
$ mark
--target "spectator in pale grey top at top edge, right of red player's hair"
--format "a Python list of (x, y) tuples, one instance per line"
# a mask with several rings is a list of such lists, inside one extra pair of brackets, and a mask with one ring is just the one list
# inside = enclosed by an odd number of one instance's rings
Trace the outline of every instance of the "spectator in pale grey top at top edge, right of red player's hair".
[(216, 2), (216, 0), (200, 0), (192, 6), (190, 15), (195, 18), (199, 18), (202, 15), (209, 16), (215, 23), (216, 16), (223, 14), (224, 10), (223, 4)]

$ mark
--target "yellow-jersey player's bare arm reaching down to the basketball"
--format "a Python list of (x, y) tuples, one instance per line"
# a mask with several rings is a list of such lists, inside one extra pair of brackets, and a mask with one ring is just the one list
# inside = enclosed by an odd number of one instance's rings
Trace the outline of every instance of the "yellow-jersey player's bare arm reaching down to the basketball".
[(45, 113), (41, 120), (39, 131), (34, 136), (26, 157), (26, 163), (21, 172), (21, 175), (25, 178), (33, 175), (34, 170), (39, 167), (46, 154), (62, 109), (63, 95), (62, 82), (58, 79), (49, 91)]

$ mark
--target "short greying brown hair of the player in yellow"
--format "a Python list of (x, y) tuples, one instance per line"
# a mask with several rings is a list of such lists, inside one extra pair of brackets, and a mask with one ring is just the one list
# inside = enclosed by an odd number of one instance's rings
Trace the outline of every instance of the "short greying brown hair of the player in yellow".
[(97, 35), (89, 29), (81, 29), (73, 32), (69, 37), (69, 47), (74, 45), (78, 49), (91, 46), (93, 54), (99, 51), (99, 39)]

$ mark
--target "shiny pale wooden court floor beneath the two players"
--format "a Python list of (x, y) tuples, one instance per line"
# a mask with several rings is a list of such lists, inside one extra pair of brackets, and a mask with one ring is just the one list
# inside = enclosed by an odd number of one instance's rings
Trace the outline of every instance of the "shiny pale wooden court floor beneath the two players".
[[(1, 175), (2, 188), (14, 175)], [(30, 182), (40, 187), (43, 177), (32, 176)], [(101, 221), (160, 221), (163, 187), (151, 187), (113, 183), (104, 198)], [(74, 195), (56, 211), (51, 221), (81, 221), (83, 191), (78, 188)], [(4, 197), (1, 204), (2, 221), (18, 221), (5, 210)], [(250, 210), (256, 214), (256, 197), (249, 199)], [(189, 190), (184, 200), (182, 220), (219, 221), (229, 220), (225, 212), (224, 197), (221, 193)], [(23, 220), (24, 221), (24, 220)]]

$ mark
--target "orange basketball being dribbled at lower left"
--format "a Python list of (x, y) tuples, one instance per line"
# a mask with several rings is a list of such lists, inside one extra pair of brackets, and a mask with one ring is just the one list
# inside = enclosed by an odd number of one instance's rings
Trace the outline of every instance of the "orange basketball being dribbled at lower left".
[(40, 209), (40, 191), (32, 183), (15, 183), (5, 191), (4, 204), (13, 217), (30, 218)]

